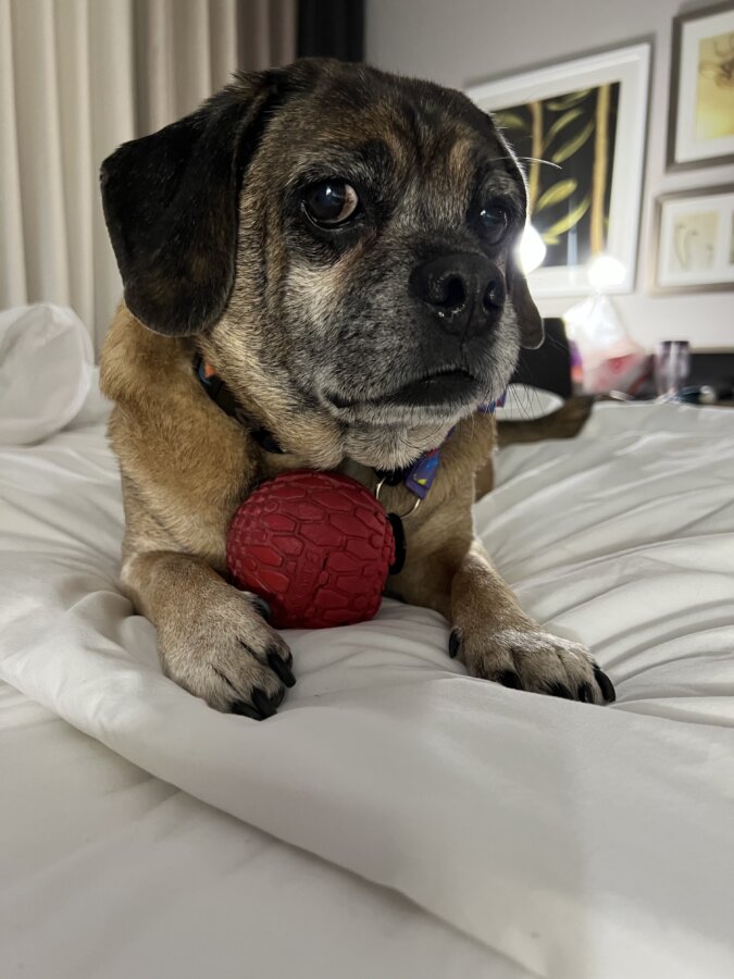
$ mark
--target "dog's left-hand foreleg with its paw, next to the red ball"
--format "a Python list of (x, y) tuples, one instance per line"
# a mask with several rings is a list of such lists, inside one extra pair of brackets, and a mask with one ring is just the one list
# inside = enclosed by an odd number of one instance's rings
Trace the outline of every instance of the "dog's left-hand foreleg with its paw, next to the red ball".
[(295, 681), (293, 656), (265, 603), (206, 561), (172, 552), (128, 556), (123, 585), (158, 628), (164, 673), (211, 707), (262, 720)]

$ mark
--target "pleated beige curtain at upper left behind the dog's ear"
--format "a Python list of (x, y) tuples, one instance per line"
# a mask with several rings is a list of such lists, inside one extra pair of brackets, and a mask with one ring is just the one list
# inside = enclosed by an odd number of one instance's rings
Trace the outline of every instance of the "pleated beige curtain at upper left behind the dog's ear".
[(0, 0), (0, 309), (71, 306), (99, 350), (122, 295), (99, 164), (295, 51), (296, 0)]

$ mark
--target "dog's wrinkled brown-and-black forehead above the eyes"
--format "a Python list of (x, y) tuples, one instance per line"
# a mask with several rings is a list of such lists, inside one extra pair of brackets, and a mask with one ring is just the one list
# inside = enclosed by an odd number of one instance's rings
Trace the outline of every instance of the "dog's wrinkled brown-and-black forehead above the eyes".
[(327, 75), (274, 117), (270, 137), (289, 187), (338, 175), (403, 201), (413, 220), (456, 223), (473, 196), (506, 198), (524, 216), (522, 175), (492, 120), (430, 83)]

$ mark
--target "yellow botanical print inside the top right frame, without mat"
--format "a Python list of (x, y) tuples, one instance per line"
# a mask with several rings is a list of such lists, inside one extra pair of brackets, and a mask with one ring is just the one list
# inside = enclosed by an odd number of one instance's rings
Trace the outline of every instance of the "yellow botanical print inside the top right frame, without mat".
[(734, 136), (734, 33), (698, 42), (696, 139)]

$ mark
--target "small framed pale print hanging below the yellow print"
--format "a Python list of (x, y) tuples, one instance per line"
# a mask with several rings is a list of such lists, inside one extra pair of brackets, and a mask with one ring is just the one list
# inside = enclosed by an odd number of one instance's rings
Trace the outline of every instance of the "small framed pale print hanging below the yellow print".
[(656, 201), (652, 292), (734, 289), (734, 184)]

